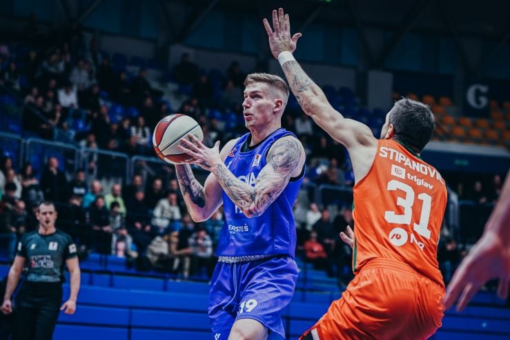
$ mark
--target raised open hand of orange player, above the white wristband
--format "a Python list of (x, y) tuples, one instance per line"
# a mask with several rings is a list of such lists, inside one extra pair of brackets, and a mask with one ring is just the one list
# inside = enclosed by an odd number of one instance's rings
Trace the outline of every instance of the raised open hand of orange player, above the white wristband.
[(281, 52), (294, 52), (296, 49), (297, 39), (300, 39), (301, 33), (296, 33), (291, 37), (291, 22), (288, 14), (284, 14), (283, 8), (273, 10), (273, 29), (267, 19), (264, 19), (264, 28), (269, 38), (269, 48), (273, 57), (278, 59)]

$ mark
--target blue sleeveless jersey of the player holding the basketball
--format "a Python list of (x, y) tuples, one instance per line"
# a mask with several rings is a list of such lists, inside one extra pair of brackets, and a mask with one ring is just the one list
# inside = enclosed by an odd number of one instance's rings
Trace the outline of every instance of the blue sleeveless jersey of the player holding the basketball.
[[(255, 186), (257, 176), (266, 166), (266, 156), (273, 143), (284, 136), (294, 136), (279, 128), (252, 150), (242, 152), (250, 134), (239, 138), (225, 159), (235, 177)], [(291, 179), (284, 191), (259, 217), (246, 217), (223, 192), (225, 222), (219, 236), (217, 256), (242, 257), (252, 255), (288, 254), (294, 257), (296, 229), (292, 207), (303, 181), (304, 171)]]

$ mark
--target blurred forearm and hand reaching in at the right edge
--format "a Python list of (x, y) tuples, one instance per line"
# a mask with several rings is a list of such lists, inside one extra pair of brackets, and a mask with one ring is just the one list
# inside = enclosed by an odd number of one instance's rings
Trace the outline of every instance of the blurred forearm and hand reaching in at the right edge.
[(464, 309), (478, 288), (495, 278), (500, 279), (498, 295), (504, 299), (510, 283), (510, 172), (482, 238), (453, 274), (444, 306), (450, 308), (458, 299), (457, 310)]

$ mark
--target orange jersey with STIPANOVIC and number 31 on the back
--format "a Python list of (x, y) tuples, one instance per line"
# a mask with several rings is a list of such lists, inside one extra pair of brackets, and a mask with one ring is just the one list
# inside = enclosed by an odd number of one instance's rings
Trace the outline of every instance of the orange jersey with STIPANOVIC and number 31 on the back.
[(380, 139), (353, 191), (353, 271), (371, 259), (391, 259), (443, 286), (437, 257), (447, 188), (438, 170), (398, 141)]

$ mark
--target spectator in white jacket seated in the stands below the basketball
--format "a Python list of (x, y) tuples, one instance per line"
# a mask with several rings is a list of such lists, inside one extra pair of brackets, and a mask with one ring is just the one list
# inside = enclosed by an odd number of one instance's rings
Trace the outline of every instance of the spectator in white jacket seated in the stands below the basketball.
[(177, 194), (170, 192), (166, 199), (160, 199), (153, 211), (153, 220), (158, 234), (166, 233), (166, 230), (179, 230), (181, 228), (181, 210), (177, 204)]

